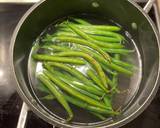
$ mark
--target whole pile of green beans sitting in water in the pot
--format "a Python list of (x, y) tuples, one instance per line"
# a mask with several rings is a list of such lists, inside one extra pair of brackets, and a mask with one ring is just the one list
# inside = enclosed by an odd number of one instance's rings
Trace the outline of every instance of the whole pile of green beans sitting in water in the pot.
[(74, 118), (70, 107), (80, 107), (100, 120), (120, 113), (114, 110), (113, 97), (118, 90), (120, 73), (133, 75), (134, 65), (121, 56), (134, 52), (121, 43), (125, 38), (121, 28), (93, 25), (86, 20), (69, 18), (55, 25), (32, 58), (42, 63), (36, 72), (38, 89), (46, 94), (42, 100), (57, 100), (68, 113), (67, 122)]

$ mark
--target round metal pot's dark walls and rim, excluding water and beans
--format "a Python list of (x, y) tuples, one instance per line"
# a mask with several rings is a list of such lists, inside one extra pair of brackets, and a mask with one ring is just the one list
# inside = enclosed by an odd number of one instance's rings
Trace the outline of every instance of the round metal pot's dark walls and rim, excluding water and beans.
[[(10, 50), (17, 91), (29, 108), (48, 123), (74, 128), (120, 127), (141, 114), (154, 98), (160, 82), (160, 40), (155, 25), (147, 14), (153, 2), (154, 0), (149, 0), (144, 9), (131, 0), (42, 0), (31, 7), (14, 31)], [(93, 3), (98, 6), (93, 6)], [(111, 122), (67, 124), (51, 115), (37, 102), (29, 84), (27, 61), (33, 41), (55, 20), (77, 13), (94, 13), (118, 22), (133, 36), (142, 56), (143, 76), (139, 89), (128, 108)], [(132, 23), (137, 24), (137, 30), (132, 28)]]

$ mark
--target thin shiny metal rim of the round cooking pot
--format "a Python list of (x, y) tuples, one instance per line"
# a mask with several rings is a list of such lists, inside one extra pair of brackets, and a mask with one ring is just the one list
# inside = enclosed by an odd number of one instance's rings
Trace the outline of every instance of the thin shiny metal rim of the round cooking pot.
[[(15, 81), (17, 83), (16, 85), (16, 89), (17, 89), (17, 92), (19, 93), (20, 97), (23, 99), (23, 101), (29, 106), (29, 108), (35, 113), (37, 114), (40, 118), (42, 118), (43, 120), (45, 120), (46, 122), (54, 125), (54, 123), (56, 123), (56, 125), (60, 125), (62, 126), (61, 122), (58, 122), (58, 121), (53, 121), (50, 116), (48, 115), (44, 115), (44, 113), (42, 111), (40, 111), (37, 107), (35, 107), (30, 99), (24, 94), (23, 90), (21, 89), (20, 85), (19, 85), (19, 82), (16, 78), (16, 73), (15, 73), (15, 69), (14, 69), (14, 61), (13, 61), (13, 51), (14, 51), (14, 44), (15, 44), (15, 41), (16, 41), (16, 37), (17, 37), (17, 34), (21, 28), (21, 26), (23, 25), (24, 21), (26, 20), (26, 18), (37, 8), (39, 7), (42, 3), (44, 3), (46, 0), (42, 0), (36, 4), (34, 4), (24, 15), (23, 17), (20, 19), (19, 23), (17, 24), (14, 32), (13, 32), (13, 35), (12, 35), (12, 38), (11, 38), (11, 45), (10, 45), (10, 66), (11, 66), (11, 72), (13, 73), (13, 77), (15, 78)], [(143, 16), (146, 18), (146, 20), (150, 23), (150, 26), (152, 27), (153, 29), (153, 32), (155, 33), (155, 36), (156, 36), (156, 39), (157, 39), (157, 44), (158, 44), (158, 48), (159, 48), (159, 58), (160, 58), (160, 37), (159, 37), (159, 34), (158, 34), (158, 30), (155, 26), (155, 24), (153, 23), (153, 21), (151, 20), (151, 18), (149, 17), (149, 15), (137, 4), (135, 3), (134, 1), (132, 0), (126, 0), (128, 1), (130, 4), (132, 4), (135, 9), (137, 9), (140, 13), (143, 14)], [(160, 59), (159, 59), (159, 67), (158, 67), (158, 75), (157, 75), (157, 78), (156, 78), (156, 81), (155, 81), (155, 84), (154, 84), (154, 87), (150, 93), (150, 95), (148, 96), (148, 98), (144, 101), (144, 103), (136, 110), (134, 111), (131, 115), (129, 115), (128, 117), (118, 121), (118, 122), (115, 122), (113, 124), (108, 124), (107, 126), (102, 126), (102, 128), (110, 128), (110, 127), (121, 127), (125, 124), (127, 124), (128, 122), (132, 121), (133, 119), (135, 119), (138, 115), (140, 115), (147, 107), (148, 105), (151, 103), (151, 101), (153, 100), (153, 98), (155, 97), (157, 91), (158, 91), (158, 88), (159, 88), (159, 82), (160, 82)], [(47, 112), (48, 113), (48, 112)], [(69, 127), (69, 128), (72, 128), (71, 125), (69, 124), (65, 124), (65, 127)], [(89, 128), (90, 126), (86, 126), (86, 128)]]

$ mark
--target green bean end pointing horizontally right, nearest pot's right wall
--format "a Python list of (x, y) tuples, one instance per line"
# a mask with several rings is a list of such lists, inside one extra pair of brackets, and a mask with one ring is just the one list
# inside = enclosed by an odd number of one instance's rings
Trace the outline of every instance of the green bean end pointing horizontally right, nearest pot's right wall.
[(111, 48), (102, 48), (105, 52), (108, 53), (119, 53), (122, 55), (126, 55), (128, 53), (133, 53), (134, 50), (128, 50), (128, 49), (111, 49)]

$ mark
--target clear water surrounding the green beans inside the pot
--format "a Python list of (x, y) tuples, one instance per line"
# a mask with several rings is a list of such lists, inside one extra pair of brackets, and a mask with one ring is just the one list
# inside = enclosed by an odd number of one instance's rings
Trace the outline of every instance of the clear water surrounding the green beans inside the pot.
[[(86, 18), (86, 16), (79, 16)], [(89, 17), (89, 18), (88, 18)], [(58, 22), (63, 21), (64, 19), (59, 20)], [(105, 18), (99, 18), (94, 16), (87, 16), (87, 20), (90, 21), (91, 23), (94, 24), (110, 24), (110, 25), (115, 25), (116, 23), (111, 21), (111, 20), (106, 20)], [(56, 22), (57, 23), (57, 22)], [(33, 53), (37, 52), (37, 47), (38, 45), (41, 45), (41, 39), (46, 35), (46, 33), (54, 33), (55, 23), (52, 25), (49, 25), (44, 32), (36, 39), (34, 42), (34, 46), (31, 49), (29, 61), (28, 61), (28, 76), (30, 79), (30, 84), (31, 88), (35, 94), (36, 100), (43, 106), (43, 108), (48, 111), (50, 114), (56, 116), (59, 119), (66, 119), (67, 113), (65, 112), (64, 108), (56, 101), (46, 101), (42, 100), (41, 97), (45, 96), (45, 93), (42, 93), (37, 89), (37, 86), (39, 86), (39, 82), (36, 79), (36, 72), (42, 71), (42, 63), (41, 62), (35, 62), (31, 58), (31, 55)], [(137, 68), (134, 71), (134, 75), (132, 77), (128, 77), (125, 75), (120, 75), (119, 76), (119, 81), (118, 81), (118, 88), (121, 90), (120, 94), (116, 94), (114, 99), (113, 99), (113, 106), (115, 109), (121, 108), (123, 111), (127, 108), (127, 106), (131, 103), (133, 100), (134, 96), (136, 95), (136, 92), (138, 91), (139, 84), (141, 81), (141, 74), (142, 74), (142, 62), (141, 62), (141, 56), (139, 53), (138, 48), (136, 47), (136, 43), (132, 39), (131, 35), (129, 32), (122, 30), (121, 34), (125, 36), (127, 39), (127, 42), (125, 43), (126, 47), (128, 49), (135, 49), (134, 53), (131, 53), (129, 57), (124, 56), (122, 57), (123, 60), (126, 62), (129, 62), (131, 64), (134, 64)], [(71, 108), (74, 113), (74, 123), (93, 123), (93, 122), (98, 122), (99, 119), (95, 118), (94, 116), (90, 115), (88, 112), (75, 107), (71, 105)]]

